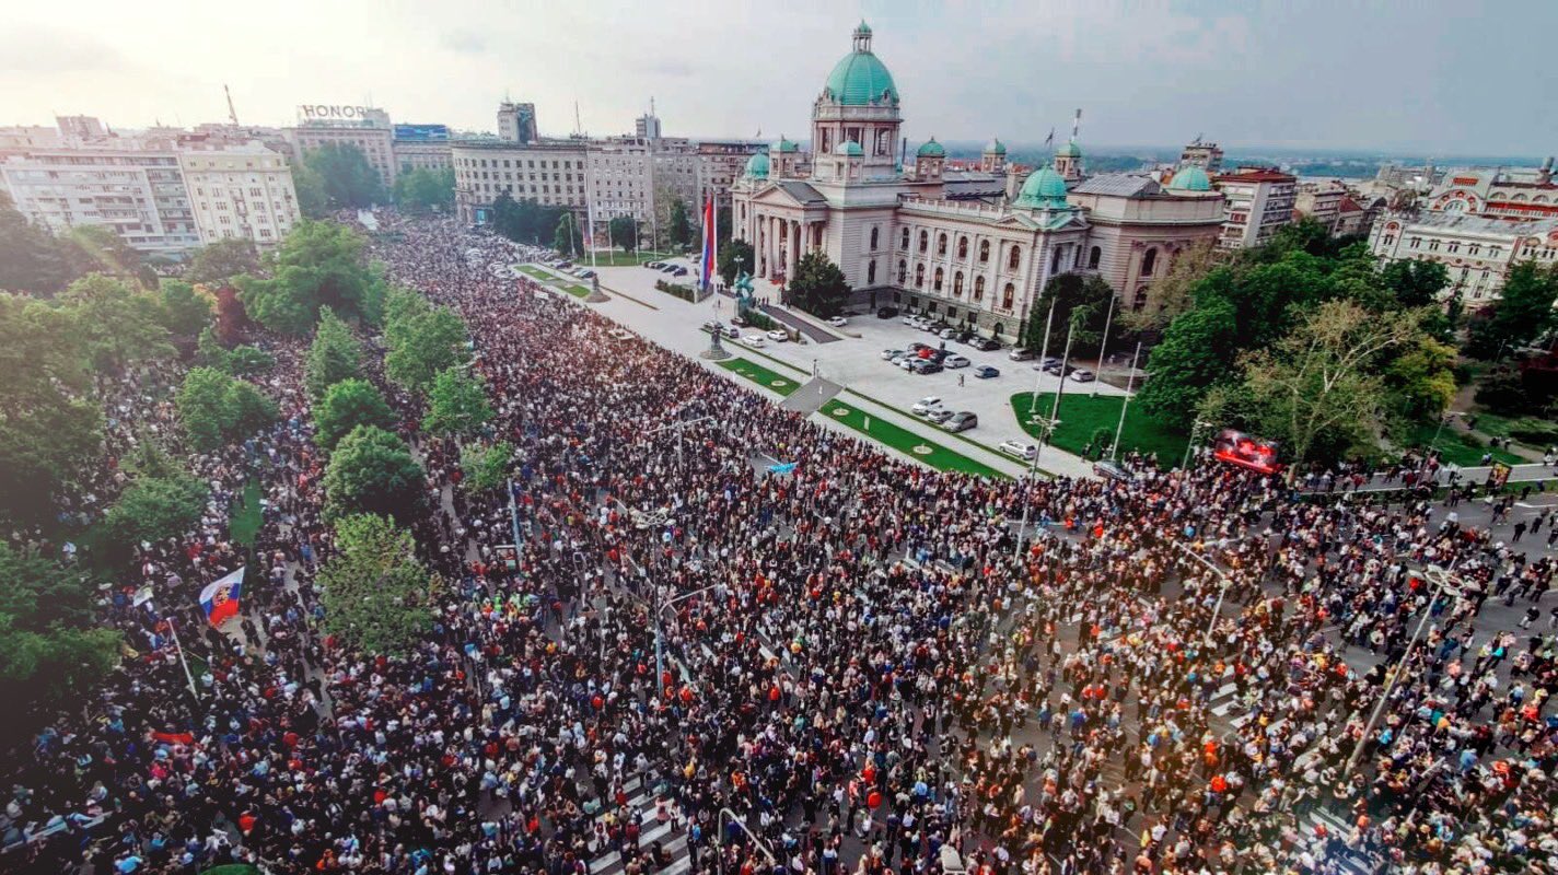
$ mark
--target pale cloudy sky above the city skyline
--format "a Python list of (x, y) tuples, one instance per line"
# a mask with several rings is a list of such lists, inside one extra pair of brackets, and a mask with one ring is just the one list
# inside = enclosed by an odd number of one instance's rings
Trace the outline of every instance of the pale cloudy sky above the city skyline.
[(301, 103), (491, 131), (804, 137), (860, 17), (919, 140), (1038, 142), (1083, 107), (1094, 145), (1558, 151), (1553, 0), (8, 0), (0, 125), (120, 128)]

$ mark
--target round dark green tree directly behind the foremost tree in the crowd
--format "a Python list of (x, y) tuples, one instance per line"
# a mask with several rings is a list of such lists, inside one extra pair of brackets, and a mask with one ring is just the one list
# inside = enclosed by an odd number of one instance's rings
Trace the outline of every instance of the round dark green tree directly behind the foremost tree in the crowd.
[(410, 523), (427, 503), (425, 475), (405, 442), (375, 425), (358, 425), (330, 453), (324, 470), (326, 515), (388, 514)]

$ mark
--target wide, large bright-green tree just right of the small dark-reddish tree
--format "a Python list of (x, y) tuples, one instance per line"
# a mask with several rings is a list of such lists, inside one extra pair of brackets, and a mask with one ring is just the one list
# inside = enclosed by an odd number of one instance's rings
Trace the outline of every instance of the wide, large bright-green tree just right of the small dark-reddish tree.
[(363, 257), (366, 244), (344, 224), (301, 221), (268, 258), (271, 279), (238, 277), (238, 297), (262, 325), (287, 335), (312, 329), (321, 307), (375, 322), (383, 282)]

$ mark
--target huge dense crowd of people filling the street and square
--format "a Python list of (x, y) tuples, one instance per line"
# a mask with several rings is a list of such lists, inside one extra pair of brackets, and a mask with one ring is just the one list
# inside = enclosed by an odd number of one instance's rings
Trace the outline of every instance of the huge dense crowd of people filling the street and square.
[[(1483, 620), (1544, 606), (1539, 543), (1215, 464), (933, 472), (516, 277), (533, 252), (380, 224), (471, 330), (513, 492), (375, 371), (447, 585), (411, 652), (326, 634), (302, 347), (268, 338), (280, 422), (192, 458), (210, 512), (106, 606), (132, 652), (8, 755), (0, 870), (1558, 872), (1553, 629)], [(114, 392), (112, 459), (178, 447), (174, 377)], [(240, 565), (209, 629), (193, 593)]]

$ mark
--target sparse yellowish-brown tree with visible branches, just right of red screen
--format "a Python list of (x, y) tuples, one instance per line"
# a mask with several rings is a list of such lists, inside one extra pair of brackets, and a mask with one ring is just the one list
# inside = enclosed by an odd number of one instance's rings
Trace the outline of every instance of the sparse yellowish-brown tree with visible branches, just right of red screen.
[(1281, 441), (1295, 466), (1374, 450), (1387, 394), (1380, 360), (1419, 333), (1410, 311), (1369, 313), (1351, 300), (1309, 311), (1273, 347), (1245, 355), (1262, 436)]

